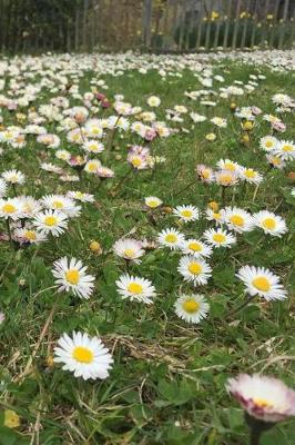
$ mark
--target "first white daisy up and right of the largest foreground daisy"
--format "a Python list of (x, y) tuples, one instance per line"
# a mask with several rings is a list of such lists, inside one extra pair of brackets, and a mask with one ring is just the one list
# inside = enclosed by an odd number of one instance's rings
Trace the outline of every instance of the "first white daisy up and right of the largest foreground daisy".
[(153, 297), (156, 295), (154, 286), (145, 278), (124, 274), (121, 275), (115, 284), (121, 297), (123, 299), (129, 298), (131, 301), (140, 301), (150, 305), (153, 303)]

